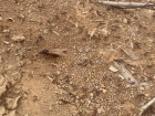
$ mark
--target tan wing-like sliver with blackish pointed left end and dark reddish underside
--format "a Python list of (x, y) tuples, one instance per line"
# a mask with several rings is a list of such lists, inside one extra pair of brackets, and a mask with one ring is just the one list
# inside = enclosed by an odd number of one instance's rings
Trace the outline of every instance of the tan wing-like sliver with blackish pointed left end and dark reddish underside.
[(53, 56), (65, 56), (68, 49), (49, 49), (43, 50), (40, 54), (53, 55)]

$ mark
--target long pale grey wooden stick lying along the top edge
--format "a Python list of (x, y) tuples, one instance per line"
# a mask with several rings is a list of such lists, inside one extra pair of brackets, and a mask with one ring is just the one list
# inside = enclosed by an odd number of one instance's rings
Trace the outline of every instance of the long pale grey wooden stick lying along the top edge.
[(96, 2), (101, 2), (106, 6), (113, 6), (118, 8), (152, 8), (155, 9), (155, 3), (148, 2), (148, 3), (140, 3), (140, 2), (116, 2), (116, 1), (103, 1), (103, 0), (96, 0)]

